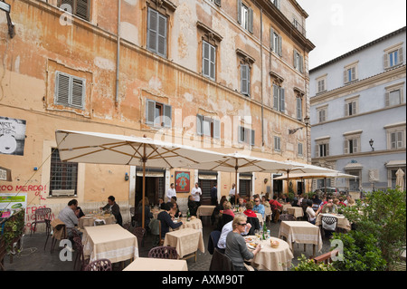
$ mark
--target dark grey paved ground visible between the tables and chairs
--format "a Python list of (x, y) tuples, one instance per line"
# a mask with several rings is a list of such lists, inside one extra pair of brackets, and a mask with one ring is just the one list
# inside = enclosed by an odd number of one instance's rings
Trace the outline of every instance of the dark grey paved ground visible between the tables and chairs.
[[(270, 229), (271, 236), (278, 236), (279, 234), (279, 223), (267, 224)], [(188, 270), (189, 271), (208, 271), (209, 265), (211, 264), (212, 255), (207, 251), (208, 237), (212, 232), (213, 227), (210, 225), (209, 219), (206, 217), (204, 219), (204, 244), (205, 252), (202, 253), (198, 251), (197, 261), (194, 262), (194, 258), (188, 259)], [(10, 259), (5, 256), (5, 270), (9, 271), (73, 271), (73, 262), (65, 261), (62, 262), (59, 258), (59, 253), (62, 248), (56, 247), (55, 251), (51, 254), (51, 239), (48, 240), (46, 250), (44, 251), (46, 236), (43, 233), (35, 233), (33, 236), (29, 234), (23, 237), (23, 250), (14, 255), (13, 263), (10, 264)], [(139, 248), (140, 256), (147, 256), (149, 249), (152, 248), (153, 236), (147, 236), (145, 240), (145, 245)], [(329, 241), (324, 239), (324, 246), (319, 254), (327, 253), (329, 251)], [(58, 246), (58, 245), (57, 245)], [(292, 260), (293, 265), (298, 264), (298, 256), (304, 254), (306, 256), (312, 255), (312, 246), (306, 246), (306, 251), (304, 252), (303, 245), (294, 245), (294, 259)], [(73, 260), (75, 259), (76, 253), (73, 254)], [(124, 264), (128, 265), (129, 261)], [(120, 264), (114, 265), (114, 270), (121, 270)]]

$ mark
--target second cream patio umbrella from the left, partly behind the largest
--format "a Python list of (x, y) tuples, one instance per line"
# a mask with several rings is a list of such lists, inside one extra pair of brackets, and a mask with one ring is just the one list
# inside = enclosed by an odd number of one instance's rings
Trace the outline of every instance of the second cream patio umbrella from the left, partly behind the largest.
[[(297, 168), (298, 164), (287, 164), (273, 159), (262, 159), (241, 153), (223, 155), (222, 159), (207, 160), (204, 162), (191, 164), (190, 169), (204, 169), (235, 173), (235, 184), (237, 185), (238, 172), (279, 172), (280, 170)], [(237, 202), (237, 192), (235, 193)]]

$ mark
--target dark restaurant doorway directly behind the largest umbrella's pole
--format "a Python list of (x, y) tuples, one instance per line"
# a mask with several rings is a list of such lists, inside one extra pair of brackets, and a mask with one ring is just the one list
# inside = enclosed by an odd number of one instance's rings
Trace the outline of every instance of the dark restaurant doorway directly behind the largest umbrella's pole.
[[(166, 171), (162, 169), (148, 169), (146, 171), (146, 194), (150, 205), (157, 205), (158, 198), (165, 199)], [(143, 192), (143, 170), (136, 170), (136, 204), (142, 199)], [(165, 200), (166, 201), (166, 200)]]

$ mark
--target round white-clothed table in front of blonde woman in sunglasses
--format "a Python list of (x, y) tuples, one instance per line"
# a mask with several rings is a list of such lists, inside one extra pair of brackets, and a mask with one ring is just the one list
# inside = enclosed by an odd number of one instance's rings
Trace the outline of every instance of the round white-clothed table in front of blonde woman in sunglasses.
[[(259, 270), (267, 271), (287, 271), (291, 266), (291, 260), (294, 255), (291, 252), (289, 244), (276, 237), (270, 237), (267, 240), (257, 240), (256, 237), (246, 236), (247, 244), (250, 244), (250, 240), (256, 239), (254, 243), (261, 245), (261, 250), (249, 260), (251, 266), (256, 267)], [(270, 246), (270, 240), (279, 241), (279, 246), (273, 248)]]

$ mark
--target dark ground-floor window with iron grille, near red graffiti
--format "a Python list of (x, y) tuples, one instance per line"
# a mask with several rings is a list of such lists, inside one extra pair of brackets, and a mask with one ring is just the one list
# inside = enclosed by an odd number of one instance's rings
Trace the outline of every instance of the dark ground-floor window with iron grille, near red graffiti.
[(74, 190), (77, 193), (78, 163), (62, 162), (58, 149), (52, 149), (50, 193), (52, 190)]

